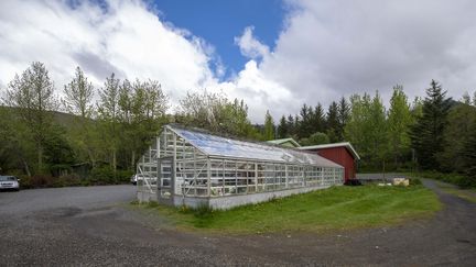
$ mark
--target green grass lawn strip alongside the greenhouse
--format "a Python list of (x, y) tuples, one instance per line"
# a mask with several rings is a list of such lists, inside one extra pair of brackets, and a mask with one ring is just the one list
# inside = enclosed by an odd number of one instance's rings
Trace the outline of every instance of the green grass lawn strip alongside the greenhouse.
[(441, 209), (422, 186), (334, 187), (227, 211), (190, 210), (156, 203), (140, 205), (174, 226), (219, 233), (325, 232), (394, 225), (429, 218)]

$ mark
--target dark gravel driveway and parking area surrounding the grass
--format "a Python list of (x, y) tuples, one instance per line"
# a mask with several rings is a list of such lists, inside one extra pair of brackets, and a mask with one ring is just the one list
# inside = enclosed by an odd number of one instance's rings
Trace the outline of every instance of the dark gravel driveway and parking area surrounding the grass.
[(476, 204), (424, 183), (445, 203), (436, 218), (321, 235), (177, 232), (123, 208), (132, 186), (0, 192), (0, 266), (476, 266)]

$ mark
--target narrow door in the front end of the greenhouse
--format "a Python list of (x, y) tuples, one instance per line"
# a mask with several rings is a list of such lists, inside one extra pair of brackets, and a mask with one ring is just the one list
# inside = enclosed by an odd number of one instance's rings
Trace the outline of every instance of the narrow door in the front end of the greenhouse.
[(173, 158), (159, 158), (158, 199), (159, 202), (173, 204)]

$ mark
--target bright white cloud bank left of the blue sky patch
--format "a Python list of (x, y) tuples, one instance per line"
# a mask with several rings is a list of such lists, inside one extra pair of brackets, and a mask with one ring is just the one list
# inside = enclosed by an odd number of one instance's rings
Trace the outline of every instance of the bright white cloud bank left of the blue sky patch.
[(173, 99), (213, 82), (213, 47), (187, 31), (159, 20), (140, 1), (110, 1), (106, 10), (83, 2), (0, 3), (0, 82), (31, 62), (45, 63), (56, 87), (79, 65), (98, 86), (111, 73), (120, 78), (159, 80)]

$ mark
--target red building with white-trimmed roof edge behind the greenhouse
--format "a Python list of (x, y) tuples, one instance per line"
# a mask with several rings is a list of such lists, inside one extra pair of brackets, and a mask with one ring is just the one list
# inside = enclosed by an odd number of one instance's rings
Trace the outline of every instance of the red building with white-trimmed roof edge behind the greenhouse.
[(334, 163), (342, 165), (345, 169), (345, 180), (355, 179), (356, 177), (356, 160), (360, 159), (357, 152), (350, 143), (334, 143), (324, 145), (312, 145), (298, 147), (299, 149), (316, 153)]

